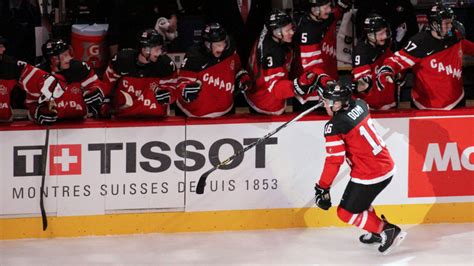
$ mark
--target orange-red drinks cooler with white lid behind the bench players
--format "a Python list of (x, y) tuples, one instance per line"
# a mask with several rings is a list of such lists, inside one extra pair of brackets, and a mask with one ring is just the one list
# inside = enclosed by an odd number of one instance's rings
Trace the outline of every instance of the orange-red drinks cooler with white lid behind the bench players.
[(71, 45), (74, 58), (87, 62), (98, 69), (107, 64), (105, 35), (108, 24), (74, 24), (72, 25)]

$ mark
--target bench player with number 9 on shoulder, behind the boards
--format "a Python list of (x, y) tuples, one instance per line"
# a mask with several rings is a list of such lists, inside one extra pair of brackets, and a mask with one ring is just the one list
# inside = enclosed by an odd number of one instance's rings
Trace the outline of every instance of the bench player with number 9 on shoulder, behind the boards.
[(370, 109), (394, 108), (398, 101), (398, 86), (388, 83), (383, 91), (376, 89), (376, 70), (393, 55), (390, 50), (390, 27), (378, 14), (369, 14), (364, 20), (365, 36), (357, 43), (352, 55), (353, 81), (357, 84), (355, 95), (364, 99)]

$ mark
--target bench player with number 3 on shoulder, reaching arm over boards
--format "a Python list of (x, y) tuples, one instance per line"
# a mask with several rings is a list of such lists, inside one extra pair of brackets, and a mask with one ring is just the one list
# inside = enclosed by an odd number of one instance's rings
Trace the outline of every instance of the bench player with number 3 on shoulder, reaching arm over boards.
[(325, 85), (330, 80), (327, 75), (313, 71), (289, 79), (293, 35), (294, 25), (290, 16), (283, 11), (273, 10), (249, 59), (255, 84), (244, 92), (247, 102), (258, 113), (282, 114), (286, 108), (286, 99), (306, 97), (317, 86)]

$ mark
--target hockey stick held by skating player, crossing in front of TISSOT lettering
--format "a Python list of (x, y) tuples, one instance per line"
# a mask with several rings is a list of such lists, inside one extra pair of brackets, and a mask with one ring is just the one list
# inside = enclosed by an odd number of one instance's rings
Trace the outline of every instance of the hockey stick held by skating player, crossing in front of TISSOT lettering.
[(265, 136), (263, 136), (262, 138), (259, 138), (257, 141), (253, 142), (252, 144), (248, 145), (247, 147), (245, 147), (244, 149), (242, 150), (239, 150), (237, 151), (236, 153), (234, 153), (232, 156), (230, 156), (229, 158), (227, 158), (226, 160), (220, 162), (219, 164), (215, 165), (214, 167), (212, 167), (211, 169), (209, 169), (207, 172), (205, 172), (204, 174), (201, 175), (201, 177), (199, 178), (199, 181), (198, 181), (198, 184), (197, 184), (197, 187), (196, 187), (196, 193), (197, 194), (203, 194), (204, 193), (204, 187), (206, 186), (206, 179), (207, 177), (212, 173), (214, 172), (215, 170), (221, 168), (222, 166), (224, 165), (227, 165), (229, 164), (233, 159), (235, 159), (237, 156), (243, 154), (244, 152), (250, 150), (251, 148), (257, 146), (258, 144), (266, 141), (268, 138), (270, 138), (271, 136), (275, 135), (278, 131), (282, 130), (283, 128), (287, 127), (289, 124), (295, 122), (295, 121), (298, 121), (299, 119), (301, 119), (303, 116), (309, 114), (310, 112), (314, 111), (316, 108), (320, 107), (323, 105), (323, 102), (319, 102), (318, 104), (312, 106), (311, 108), (305, 110), (304, 112), (302, 112), (301, 114), (299, 114), (298, 116), (296, 116), (295, 118), (291, 119), (290, 121), (284, 123), (283, 125), (277, 127), (275, 130), (269, 132), (268, 134), (266, 134)]

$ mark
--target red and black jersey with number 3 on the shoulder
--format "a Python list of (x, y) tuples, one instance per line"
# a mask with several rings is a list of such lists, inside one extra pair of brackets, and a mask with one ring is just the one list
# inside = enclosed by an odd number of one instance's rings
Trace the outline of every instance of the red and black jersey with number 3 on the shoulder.
[(249, 73), (255, 84), (245, 92), (255, 111), (269, 115), (285, 111), (286, 99), (295, 96), (293, 83), (288, 79), (292, 59), (290, 45), (277, 43), (271, 34), (257, 40), (249, 59)]

